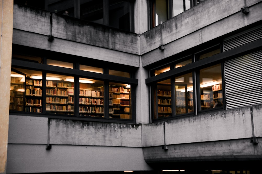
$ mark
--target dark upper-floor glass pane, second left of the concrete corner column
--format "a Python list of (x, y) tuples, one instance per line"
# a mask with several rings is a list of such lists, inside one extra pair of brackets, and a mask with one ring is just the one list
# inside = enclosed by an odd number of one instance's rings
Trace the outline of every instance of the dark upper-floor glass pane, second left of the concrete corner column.
[(80, 0), (80, 19), (103, 24), (103, 0)]

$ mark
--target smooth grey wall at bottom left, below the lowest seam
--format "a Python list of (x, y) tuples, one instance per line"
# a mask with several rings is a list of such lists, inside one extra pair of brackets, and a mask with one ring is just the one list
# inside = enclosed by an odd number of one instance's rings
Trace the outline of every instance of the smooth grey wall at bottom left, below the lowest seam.
[(142, 148), (8, 144), (7, 173), (151, 170)]

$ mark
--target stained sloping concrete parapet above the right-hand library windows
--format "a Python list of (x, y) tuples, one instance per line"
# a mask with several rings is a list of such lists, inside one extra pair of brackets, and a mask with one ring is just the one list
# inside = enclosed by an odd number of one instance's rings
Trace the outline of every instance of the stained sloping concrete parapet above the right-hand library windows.
[(143, 66), (262, 20), (262, 1), (248, 1), (248, 5), (250, 13), (244, 15), (241, 13), (244, 0), (210, 0), (173, 17), (162, 24), (163, 51), (158, 49), (161, 44), (161, 26), (141, 34)]

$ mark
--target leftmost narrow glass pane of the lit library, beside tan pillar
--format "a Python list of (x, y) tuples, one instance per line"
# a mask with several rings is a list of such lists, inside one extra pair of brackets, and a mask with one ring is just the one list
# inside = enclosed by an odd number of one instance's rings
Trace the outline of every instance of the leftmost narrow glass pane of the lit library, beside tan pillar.
[(10, 111), (24, 111), (25, 75), (11, 71)]

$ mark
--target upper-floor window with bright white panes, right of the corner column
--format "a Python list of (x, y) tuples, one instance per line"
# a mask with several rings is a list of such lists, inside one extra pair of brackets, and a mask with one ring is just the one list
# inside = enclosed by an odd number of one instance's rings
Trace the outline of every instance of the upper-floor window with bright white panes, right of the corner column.
[(204, 0), (150, 0), (150, 28), (171, 19)]

